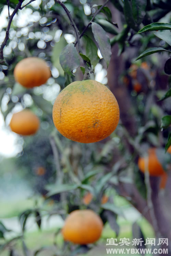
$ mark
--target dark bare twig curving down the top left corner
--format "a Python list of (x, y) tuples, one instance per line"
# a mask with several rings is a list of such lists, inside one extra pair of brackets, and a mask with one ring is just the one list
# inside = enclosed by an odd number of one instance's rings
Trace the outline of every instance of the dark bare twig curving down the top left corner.
[(9, 31), (10, 31), (11, 22), (13, 20), (14, 15), (17, 13), (17, 11), (19, 9), (21, 9), (21, 5), (22, 5), (22, 1), (19, 1), (17, 3), (13, 13), (10, 16), (10, 19), (9, 19), (9, 22), (8, 22), (8, 26), (6, 28), (5, 38), (4, 38), (4, 40), (3, 40), (2, 44), (1, 44), (1, 47), (0, 47), (0, 59), (2, 59), (2, 60), (3, 60), (3, 48), (5, 47), (8, 39), (9, 39)]

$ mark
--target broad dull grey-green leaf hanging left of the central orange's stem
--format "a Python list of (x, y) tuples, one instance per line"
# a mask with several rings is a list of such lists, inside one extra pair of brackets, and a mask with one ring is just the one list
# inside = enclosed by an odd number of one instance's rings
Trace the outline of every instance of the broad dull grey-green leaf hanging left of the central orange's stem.
[(73, 75), (73, 69), (80, 65), (79, 54), (73, 43), (64, 47), (60, 54), (60, 64), (68, 75)]

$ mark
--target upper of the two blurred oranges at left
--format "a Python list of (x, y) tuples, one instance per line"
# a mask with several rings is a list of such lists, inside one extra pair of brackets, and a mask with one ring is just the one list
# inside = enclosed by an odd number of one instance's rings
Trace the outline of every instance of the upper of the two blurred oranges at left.
[(51, 76), (46, 62), (37, 57), (29, 57), (19, 61), (14, 68), (15, 81), (26, 88), (44, 84)]

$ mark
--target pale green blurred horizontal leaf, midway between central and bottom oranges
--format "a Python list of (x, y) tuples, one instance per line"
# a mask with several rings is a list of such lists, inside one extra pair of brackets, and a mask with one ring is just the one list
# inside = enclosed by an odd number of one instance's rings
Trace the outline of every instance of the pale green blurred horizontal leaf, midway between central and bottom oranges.
[(45, 188), (47, 190), (49, 190), (49, 192), (47, 193), (47, 196), (52, 196), (61, 192), (66, 192), (66, 191), (70, 191), (70, 190), (75, 190), (76, 188), (78, 188), (77, 184), (56, 184), (56, 185), (47, 185), (45, 186)]

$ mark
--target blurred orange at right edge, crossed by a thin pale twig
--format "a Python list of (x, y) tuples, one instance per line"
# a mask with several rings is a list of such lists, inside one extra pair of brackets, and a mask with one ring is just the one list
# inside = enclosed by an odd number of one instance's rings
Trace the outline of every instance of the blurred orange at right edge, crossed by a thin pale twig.
[(161, 176), (165, 174), (161, 163), (159, 162), (156, 155), (156, 148), (150, 148), (148, 150), (148, 157), (140, 157), (138, 160), (139, 169), (145, 172), (145, 161), (147, 160), (147, 168), (151, 176)]

